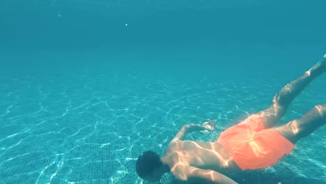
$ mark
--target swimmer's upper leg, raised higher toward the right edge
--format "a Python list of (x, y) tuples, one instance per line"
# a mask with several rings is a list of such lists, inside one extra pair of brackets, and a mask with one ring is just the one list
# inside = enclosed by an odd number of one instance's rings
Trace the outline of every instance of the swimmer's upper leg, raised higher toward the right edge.
[(286, 84), (281, 91), (274, 95), (272, 105), (267, 109), (258, 112), (264, 124), (264, 128), (272, 128), (284, 114), (290, 105), (290, 102), (300, 94), (300, 92), (311, 82), (313, 79), (326, 71), (326, 54), (323, 59), (316, 63), (315, 66), (310, 68), (304, 74), (295, 79), (294, 81)]

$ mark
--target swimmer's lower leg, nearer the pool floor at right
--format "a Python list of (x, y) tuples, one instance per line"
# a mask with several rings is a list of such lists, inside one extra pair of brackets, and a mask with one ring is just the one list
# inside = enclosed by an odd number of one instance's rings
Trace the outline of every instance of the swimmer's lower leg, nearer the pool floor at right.
[(313, 109), (295, 121), (290, 121), (289, 123), (271, 128), (270, 130), (279, 133), (279, 135), (286, 137), (286, 139), (295, 144), (299, 139), (310, 135), (314, 130), (325, 124), (326, 103), (316, 105)]

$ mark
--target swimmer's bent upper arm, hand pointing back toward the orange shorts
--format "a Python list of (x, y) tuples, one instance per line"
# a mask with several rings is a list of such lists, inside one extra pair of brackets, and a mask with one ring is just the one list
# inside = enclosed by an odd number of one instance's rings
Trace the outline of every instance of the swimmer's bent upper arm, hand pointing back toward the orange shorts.
[(172, 139), (171, 142), (183, 141), (187, 134), (194, 131), (203, 131), (203, 130), (214, 130), (216, 125), (216, 121), (207, 121), (203, 124), (187, 124), (183, 125), (183, 127), (179, 130), (178, 134)]

